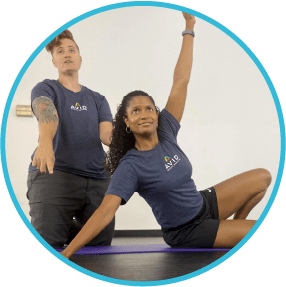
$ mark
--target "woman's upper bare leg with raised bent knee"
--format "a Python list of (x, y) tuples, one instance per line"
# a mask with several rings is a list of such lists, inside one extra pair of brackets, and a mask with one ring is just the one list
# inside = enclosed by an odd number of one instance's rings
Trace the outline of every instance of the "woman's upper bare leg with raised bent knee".
[(254, 169), (241, 173), (214, 186), (219, 209), (219, 218), (245, 219), (263, 198), (271, 183), (266, 169)]

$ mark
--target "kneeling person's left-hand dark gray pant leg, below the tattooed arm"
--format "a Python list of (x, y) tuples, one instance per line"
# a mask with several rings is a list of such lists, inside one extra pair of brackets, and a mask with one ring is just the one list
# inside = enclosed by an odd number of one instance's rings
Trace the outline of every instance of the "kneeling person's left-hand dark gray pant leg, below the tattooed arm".
[(31, 224), (52, 247), (62, 248), (66, 243), (86, 186), (87, 179), (58, 170), (52, 175), (38, 170), (29, 173)]

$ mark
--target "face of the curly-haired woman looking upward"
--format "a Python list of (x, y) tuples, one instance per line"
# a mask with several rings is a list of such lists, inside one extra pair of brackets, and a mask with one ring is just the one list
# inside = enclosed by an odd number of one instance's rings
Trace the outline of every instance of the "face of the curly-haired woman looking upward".
[(149, 97), (137, 96), (130, 100), (124, 121), (134, 136), (152, 136), (157, 133), (158, 114)]

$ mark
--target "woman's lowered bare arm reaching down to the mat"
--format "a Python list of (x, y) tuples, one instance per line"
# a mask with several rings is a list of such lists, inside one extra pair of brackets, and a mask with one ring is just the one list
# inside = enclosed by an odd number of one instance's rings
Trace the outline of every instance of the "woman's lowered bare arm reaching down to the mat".
[(116, 195), (107, 194), (99, 208), (89, 218), (81, 231), (68, 247), (60, 253), (69, 259), (77, 250), (96, 237), (111, 222), (121, 200)]

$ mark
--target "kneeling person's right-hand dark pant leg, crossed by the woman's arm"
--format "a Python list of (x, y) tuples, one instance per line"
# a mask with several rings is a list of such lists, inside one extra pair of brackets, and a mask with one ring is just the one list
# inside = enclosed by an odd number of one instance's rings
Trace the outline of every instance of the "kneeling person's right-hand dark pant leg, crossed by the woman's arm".
[[(81, 210), (81, 214), (76, 215), (77, 228), (80, 229), (87, 220), (92, 216), (94, 211), (100, 206), (104, 194), (109, 185), (110, 179), (104, 180), (94, 180), (89, 179), (89, 185), (86, 193), (85, 205)], [(111, 221), (109, 225), (105, 227), (93, 240), (91, 240), (87, 245), (99, 245), (107, 246), (111, 245), (111, 241), (114, 235), (115, 228), (115, 218)]]

